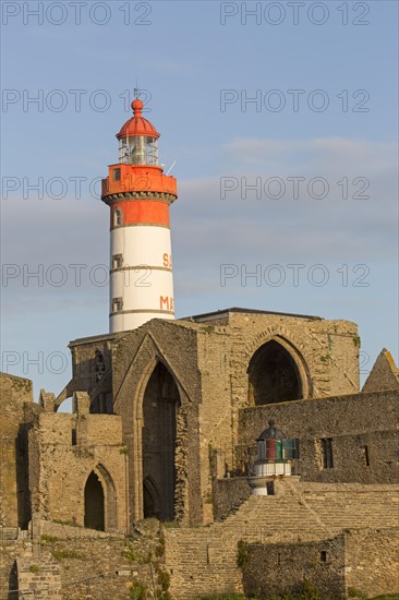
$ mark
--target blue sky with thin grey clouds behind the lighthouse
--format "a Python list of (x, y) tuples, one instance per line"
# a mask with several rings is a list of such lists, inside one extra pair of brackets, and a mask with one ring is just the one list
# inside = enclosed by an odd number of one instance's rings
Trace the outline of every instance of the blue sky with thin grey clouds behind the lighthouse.
[[(87, 1), (77, 24), (68, 1), (2, 3), (2, 369), (36, 396), (68, 383), (70, 339), (108, 331), (94, 181), (118, 159), (136, 80), (161, 161), (177, 161), (177, 316), (238, 305), (348, 319), (363, 379), (383, 347), (397, 352), (398, 4), (293, 4), (298, 24), (292, 2)], [(74, 264), (87, 265), (78, 286)], [(222, 286), (221, 272), (237, 275)]]

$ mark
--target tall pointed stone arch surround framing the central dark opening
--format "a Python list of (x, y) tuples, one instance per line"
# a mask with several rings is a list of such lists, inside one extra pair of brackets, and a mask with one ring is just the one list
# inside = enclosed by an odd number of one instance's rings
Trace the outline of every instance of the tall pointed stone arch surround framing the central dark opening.
[[(168, 321), (159, 323), (159, 327), (169, 331)], [(140, 348), (129, 364), (123, 380), (116, 386), (116, 412), (123, 416), (125, 424), (125, 443), (129, 448), (129, 506), (131, 521), (144, 518), (144, 479), (143, 467), (143, 433), (144, 433), (144, 396), (149, 380), (162, 363), (172, 376), (178, 389), (176, 406), (176, 488), (174, 518), (180, 523), (200, 523), (202, 507), (196, 503), (197, 490), (201, 488), (200, 469), (189, 469), (195, 457), (200, 456), (200, 441), (192, 435), (195, 420), (189, 420), (189, 413), (196, 416), (196, 403), (200, 397), (200, 372), (194, 370), (191, 377), (179, 372), (177, 365), (171, 365), (166, 358), (162, 344), (147, 332)], [(148, 391), (147, 391), (148, 392)], [(188, 436), (191, 436), (190, 444)]]

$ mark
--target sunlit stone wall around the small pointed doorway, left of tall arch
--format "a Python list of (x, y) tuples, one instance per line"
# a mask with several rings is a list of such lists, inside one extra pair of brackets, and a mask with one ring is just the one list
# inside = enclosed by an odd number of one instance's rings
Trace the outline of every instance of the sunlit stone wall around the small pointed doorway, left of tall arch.
[(120, 417), (41, 412), (29, 431), (29, 460), (33, 511), (41, 518), (83, 525), (85, 483), (95, 470), (106, 528), (126, 530), (128, 455)]

